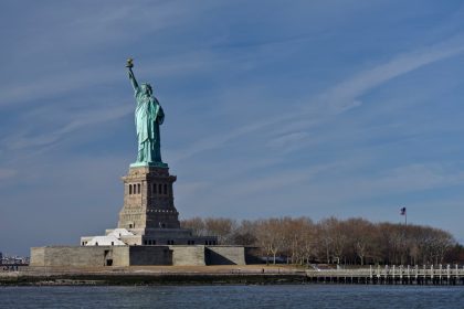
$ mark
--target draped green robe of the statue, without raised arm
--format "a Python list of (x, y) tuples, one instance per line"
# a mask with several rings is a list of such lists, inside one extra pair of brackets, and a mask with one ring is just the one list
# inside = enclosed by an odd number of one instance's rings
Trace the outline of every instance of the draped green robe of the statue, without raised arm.
[(135, 122), (138, 138), (137, 162), (162, 162), (160, 151), (159, 125), (165, 120), (165, 113), (158, 100), (137, 89)]

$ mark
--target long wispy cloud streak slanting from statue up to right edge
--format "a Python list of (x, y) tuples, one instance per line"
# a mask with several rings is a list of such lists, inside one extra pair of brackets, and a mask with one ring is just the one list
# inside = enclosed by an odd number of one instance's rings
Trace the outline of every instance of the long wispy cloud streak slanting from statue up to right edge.
[[(425, 65), (458, 55), (464, 52), (464, 41), (461, 36), (452, 38), (441, 43), (419, 49), (394, 56), (392, 60), (378, 64), (370, 70), (350, 76), (346, 81), (308, 98), (303, 108), (285, 115), (270, 117), (266, 120), (242, 126), (229, 132), (211, 135), (197, 140), (194, 145), (179, 154), (176, 160), (187, 159), (193, 154), (223, 147), (226, 142), (244, 135), (271, 127), (277, 139), (281, 135), (292, 136), (294, 131), (307, 130), (325, 122), (334, 115), (345, 113), (362, 105), (360, 97), (392, 78), (419, 70)], [(281, 126), (275, 126), (275, 125)], [(300, 136), (302, 137), (302, 136)], [(272, 141), (271, 141), (272, 142)], [(298, 142), (298, 140), (295, 140)]]

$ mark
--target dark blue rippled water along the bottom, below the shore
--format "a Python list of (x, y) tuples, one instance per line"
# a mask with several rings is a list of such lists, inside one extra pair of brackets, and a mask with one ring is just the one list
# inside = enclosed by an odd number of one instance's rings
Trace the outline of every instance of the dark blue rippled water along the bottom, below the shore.
[(464, 287), (0, 287), (0, 308), (464, 308)]

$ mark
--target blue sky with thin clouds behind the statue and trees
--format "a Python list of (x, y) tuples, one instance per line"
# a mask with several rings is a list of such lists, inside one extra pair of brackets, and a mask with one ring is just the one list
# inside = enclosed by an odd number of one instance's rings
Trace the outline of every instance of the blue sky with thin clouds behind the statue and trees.
[(2, 1), (0, 252), (114, 227), (154, 85), (182, 217), (408, 220), (464, 242), (462, 1)]

